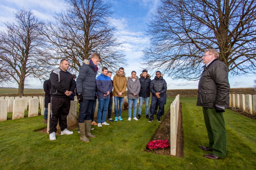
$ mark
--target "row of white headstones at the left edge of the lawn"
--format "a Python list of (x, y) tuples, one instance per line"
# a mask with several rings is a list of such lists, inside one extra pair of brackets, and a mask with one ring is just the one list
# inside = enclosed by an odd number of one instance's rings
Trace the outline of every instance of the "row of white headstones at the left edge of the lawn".
[(27, 106), (29, 106), (28, 117), (38, 116), (39, 103), (41, 103), (39, 100), (44, 102), (44, 97), (39, 96), (39, 99), (37, 96), (33, 98), (32, 96), (0, 97), (0, 121), (7, 120), (8, 112), (12, 112), (12, 119), (24, 118), (24, 111), (27, 110)]

